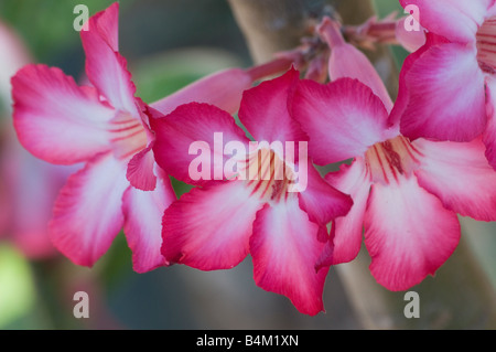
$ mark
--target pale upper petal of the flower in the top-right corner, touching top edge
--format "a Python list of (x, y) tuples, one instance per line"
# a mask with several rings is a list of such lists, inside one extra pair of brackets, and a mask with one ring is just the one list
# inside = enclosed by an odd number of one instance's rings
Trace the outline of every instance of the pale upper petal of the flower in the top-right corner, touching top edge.
[(493, 0), (400, 0), (403, 8), (418, 7), (412, 15), (429, 31), (452, 41), (468, 43), (475, 40)]

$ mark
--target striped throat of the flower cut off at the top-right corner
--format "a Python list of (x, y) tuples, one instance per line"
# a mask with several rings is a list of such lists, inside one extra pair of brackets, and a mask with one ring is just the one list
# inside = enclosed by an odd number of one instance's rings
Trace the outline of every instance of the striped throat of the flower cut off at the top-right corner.
[(496, 17), (487, 19), (477, 31), (477, 61), (481, 70), (496, 73)]

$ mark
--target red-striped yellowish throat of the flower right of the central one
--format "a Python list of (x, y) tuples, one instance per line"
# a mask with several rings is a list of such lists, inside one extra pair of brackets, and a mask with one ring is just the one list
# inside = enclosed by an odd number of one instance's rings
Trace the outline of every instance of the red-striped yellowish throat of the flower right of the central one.
[(389, 184), (399, 174), (409, 175), (419, 164), (420, 152), (405, 137), (396, 137), (371, 146), (365, 153), (373, 182)]

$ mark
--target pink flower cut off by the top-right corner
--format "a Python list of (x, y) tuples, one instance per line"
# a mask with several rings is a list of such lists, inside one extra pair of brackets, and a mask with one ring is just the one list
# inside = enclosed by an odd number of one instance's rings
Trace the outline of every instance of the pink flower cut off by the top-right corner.
[(400, 3), (418, 7), (429, 39), (403, 65), (392, 118), (411, 139), (471, 141), (484, 134), (486, 157), (496, 168), (495, 1)]

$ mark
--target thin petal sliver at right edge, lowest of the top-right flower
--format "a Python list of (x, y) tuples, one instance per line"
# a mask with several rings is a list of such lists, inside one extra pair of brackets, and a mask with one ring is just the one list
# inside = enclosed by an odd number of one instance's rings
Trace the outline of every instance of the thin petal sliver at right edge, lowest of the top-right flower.
[(493, 76), (486, 77), (486, 96), (487, 126), (483, 141), (486, 146), (486, 158), (496, 170), (496, 79)]

